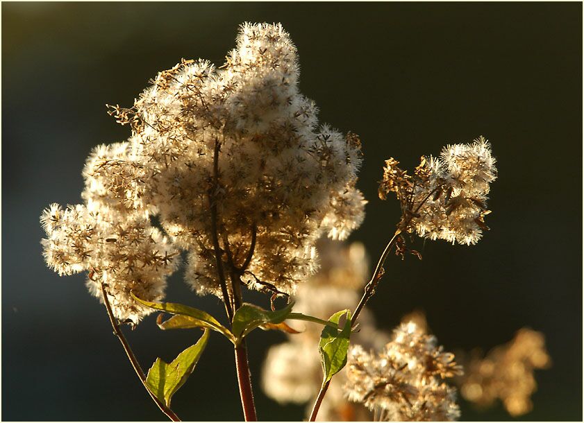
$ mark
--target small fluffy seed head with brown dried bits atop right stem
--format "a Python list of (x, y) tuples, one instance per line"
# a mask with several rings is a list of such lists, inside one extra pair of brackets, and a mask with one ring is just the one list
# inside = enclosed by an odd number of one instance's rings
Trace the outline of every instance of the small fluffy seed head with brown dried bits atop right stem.
[(444, 147), (439, 158), (422, 157), (414, 175), (397, 160), (385, 161), (379, 187), (382, 199), (393, 192), (401, 203), (401, 230), (429, 239), (471, 245), (481, 239), (490, 182), (497, 178), (489, 142)]

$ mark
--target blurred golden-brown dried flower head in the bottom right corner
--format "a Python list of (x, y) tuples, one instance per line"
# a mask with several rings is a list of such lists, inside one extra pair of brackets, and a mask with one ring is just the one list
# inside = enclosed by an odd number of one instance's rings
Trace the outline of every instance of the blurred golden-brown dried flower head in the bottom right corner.
[(475, 354), (469, 359), (460, 392), (481, 407), (499, 398), (510, 415), (523, 415), (533, 408), (530, 397), (537, 389), (533, 372), (549, 365), (544, 335), (520, 329), (513, 340), (492, 349), (486, 357)]

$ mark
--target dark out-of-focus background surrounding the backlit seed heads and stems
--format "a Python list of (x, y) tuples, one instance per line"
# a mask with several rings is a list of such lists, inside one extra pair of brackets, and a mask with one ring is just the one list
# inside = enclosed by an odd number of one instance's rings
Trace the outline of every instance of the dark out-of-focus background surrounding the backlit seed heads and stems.
[[(350, 238), (372, 261), (399, 220), (377, 197), (383, 161), (484, 135), (498, 159), (478, 245), (418, 240), (423, 261), (393, 257), (369, 303), (390, 330), (420, 309), (440, 344), (488, 350), (520, 327), (542, 331), (553, 367), (537, 372), (524, 420), (582, 419), (581, 3), (2, 3), (2, 420), (163, 420), (133, 374), (85, 275), (45, 265), (38, 217), (81, 202), (93, 146), (129, 129), (106, 103), (131, 106), (181, 58), (220, 65), (244, 21), (281, 22), (299, 50), (301, 92), (321, 121), (360, 135), (358, 187), (369, 200)], [(168, 300), (222, 316), (174, 275)], [(249, 300), (260, 296), (249, 295)], [(265, 304), (265, 300), (261, 299)], [(126, 331), (144, 368), (171, 361), (192, 331), (149, 316)], [(301, 420), (260, 390), (283, 334), (249, 338), (261, 420)], [(173, 408), (185, 420), (241, 420), (230, 345), (212, 336)], [(462, 420), (509, 420), (499, 404)]]

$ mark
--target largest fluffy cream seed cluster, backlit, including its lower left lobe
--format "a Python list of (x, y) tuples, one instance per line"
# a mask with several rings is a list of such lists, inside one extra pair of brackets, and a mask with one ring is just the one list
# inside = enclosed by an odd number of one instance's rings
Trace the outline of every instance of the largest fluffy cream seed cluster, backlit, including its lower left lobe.
[(293, 293), (315, 271), (319, 236), (344, 239), (362, 222), (359, 138), (319, 125), (280, 24), (243, 24), (222, 67), (182, 60), (151, 82), (133, 107), (110, 106), (131, 137), (87, 159), (85, 205), (43, 214), (49, 266), (91, 281), (108, 271), (116, 316), (133, 321), (147, 311), (128, 292), (160, 300), (181, 251), (201, 295), (222, 295), (218, 266)]

